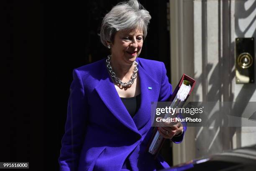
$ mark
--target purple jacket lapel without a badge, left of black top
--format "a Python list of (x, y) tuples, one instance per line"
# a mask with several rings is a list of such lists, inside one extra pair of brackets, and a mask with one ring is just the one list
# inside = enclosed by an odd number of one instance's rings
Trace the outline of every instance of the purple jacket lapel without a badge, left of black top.
[(133, 130), (135, 133), (139, 133), (131, 115), (126, 110), (123, 102), (121, 101), (118, 92), (108, 74), (108, 70), (105, 63), (102, 64), (102, 77), (100, 82), (95, 87), (97, 93), (100, 95), (101, 100), (108, 107), (110, 112), (127, 128)]

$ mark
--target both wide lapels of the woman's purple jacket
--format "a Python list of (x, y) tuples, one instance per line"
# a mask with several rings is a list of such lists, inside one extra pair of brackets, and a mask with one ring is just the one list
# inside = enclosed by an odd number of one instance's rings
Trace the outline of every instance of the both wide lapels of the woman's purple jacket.
[(151, 102), (158, 100), (160, 85), (143, 69), (140, 61), (138, 59), (136, 61), (138, 62), (138, 77), (140, 78), (141, 84), (141, 106), (133, 118), (120, 100), (114, 83), (108, 74), (105, 62), (102, 63), (102, 76), (95, 89), (110, 112), (127, 128), (140, 134), (138, 130), (150, 121)]

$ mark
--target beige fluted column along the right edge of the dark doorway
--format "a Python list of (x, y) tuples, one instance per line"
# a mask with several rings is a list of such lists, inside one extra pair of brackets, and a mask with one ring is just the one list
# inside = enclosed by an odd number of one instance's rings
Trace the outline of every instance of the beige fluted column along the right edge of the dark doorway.
[[(175, 88), (182, 74), (194, 77), (193, 2), (170, 0), (170, 23), (171, 80)], [(192, 100), (193, 96), (189, 99)], [(173, 143), (173, 163), (176, 165), (193, 158), (195, 158), (195, 128), (190, 127), (182, 143)]]

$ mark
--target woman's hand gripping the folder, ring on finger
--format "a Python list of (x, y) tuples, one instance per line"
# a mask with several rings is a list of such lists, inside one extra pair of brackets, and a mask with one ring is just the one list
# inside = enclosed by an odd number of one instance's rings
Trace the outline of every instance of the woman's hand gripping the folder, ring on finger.
[(181, 122), (161, 122), (163, 127), (158, 127), (159, 133), (164, 138), (173, 138), (175, 135), (182, 133), (183, 126)]

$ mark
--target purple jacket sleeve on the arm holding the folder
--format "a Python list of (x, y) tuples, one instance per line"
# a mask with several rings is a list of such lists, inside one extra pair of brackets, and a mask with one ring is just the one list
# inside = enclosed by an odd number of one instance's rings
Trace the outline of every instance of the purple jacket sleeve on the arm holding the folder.
[[(160, 89), (160, 95), (159, 95), (159, 102), (166, 102), (169, 101), (172, 97), (172, 85), (169, 83), (168, 77), (166, 76), (166, 68), (164, 66), (164, 63), (162, 62), (162, 82), (161, 82), (161, 89)], [(178, 117), (182, 117), (182, 115), (179, 115)], [(184, 137), (184, 134), (187, 130), (187, 123), (182, 122), (183, 126), (183, 133), (182, 135), (178, 137), (173, 137), (172, 141), (174, 143), (181, 143)]]

